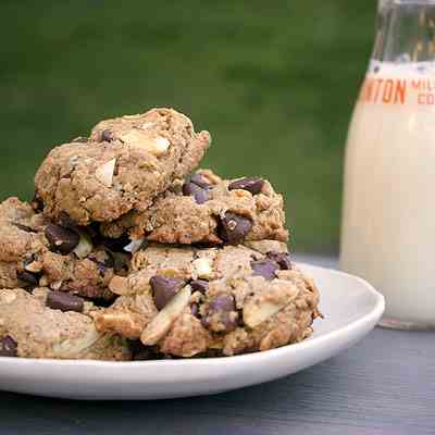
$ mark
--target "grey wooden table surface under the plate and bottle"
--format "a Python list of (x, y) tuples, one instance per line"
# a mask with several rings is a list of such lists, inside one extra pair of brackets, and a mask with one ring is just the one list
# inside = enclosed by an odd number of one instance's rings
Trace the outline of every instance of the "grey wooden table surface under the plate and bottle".
[(434, 338), (376, 328), (293, 376), (208, 397), (80, 402), (0, 393), (0, 434), (435, 434)]

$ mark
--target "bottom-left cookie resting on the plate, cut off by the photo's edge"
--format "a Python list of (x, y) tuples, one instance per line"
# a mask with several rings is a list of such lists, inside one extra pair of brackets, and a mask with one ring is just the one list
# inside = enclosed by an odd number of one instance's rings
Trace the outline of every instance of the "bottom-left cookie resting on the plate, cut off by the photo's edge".
[(125, 340), (98, 332), (88, 314), (71, 310), (67, 303), (59, 306), (59, 300), (54, 309), (50, 308), (50, 293), (45, 288), (35, 289), (34, 294), (21, 288), (0, 289), (0, 356), (130, 359)]

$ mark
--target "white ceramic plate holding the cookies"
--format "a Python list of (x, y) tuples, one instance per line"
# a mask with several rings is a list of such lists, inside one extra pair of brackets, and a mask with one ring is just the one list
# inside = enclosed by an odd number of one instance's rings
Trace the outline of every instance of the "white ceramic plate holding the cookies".
[(251, 355), (163, 361), (104, 362), (0, 358), (0, 389), (74, 399), (162, 399), (208, 395), (276, 380), (352, 346), (384, 312), (364, 281), (301, 264), (321, 293), (324, 320), (296, 345)]

